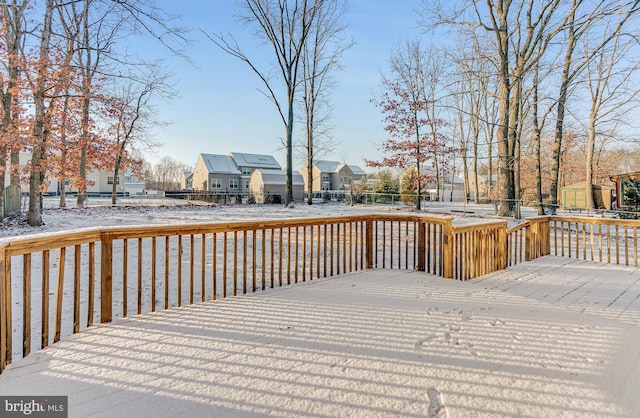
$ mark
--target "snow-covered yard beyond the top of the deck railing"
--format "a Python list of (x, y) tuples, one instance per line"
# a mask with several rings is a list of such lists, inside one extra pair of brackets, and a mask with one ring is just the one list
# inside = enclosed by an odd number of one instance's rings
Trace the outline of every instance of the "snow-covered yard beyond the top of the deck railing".
[[(346, 214), (366, 214), (379, 212), (409, 211), (402, 205), (350, 206), (345, 203), (307, 205), (297, 203), (293, 208), (283, 205), (227, 205), (216, 206), (196, 201), (169, 199), (162, 197), (119, 198), (115, 206), (111, 199), (90, 198), (88, 207), (76, 209), (75, 201), (67, 199), (67, 208), (59, 208), (59, 198), (44, 200), (42, 219), (44, 225), (30, 227), (24, 217), (6, 219), (0, 223), (0, 240), (20, 235), (46, 234), (73, 229), (118, 225), (159, 225), (209, 222), (232, 222), (260, 219), (300, 218), (311, 216), (340, 216)], [(426, 213), (450, 214), (456, 222), (467, 219), (478, 221), (478, 217), (493, 217), (493, 205), (463, 205), (461, 203), (431, 202), (426, 205)], [(533, 216), (535, 211), (523, 212)], [(514, 224), (514, 221), (511, 221)]]

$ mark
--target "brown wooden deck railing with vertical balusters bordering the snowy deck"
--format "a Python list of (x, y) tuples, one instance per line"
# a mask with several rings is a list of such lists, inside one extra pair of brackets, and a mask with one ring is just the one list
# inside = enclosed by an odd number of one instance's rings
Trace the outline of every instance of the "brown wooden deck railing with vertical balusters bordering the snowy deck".
[(0, 372), (95, 323), (365, 269), (469, 280), (550, 253), (637, 266), (639, 226), (376, 214), (18, 238), (0, 245)]

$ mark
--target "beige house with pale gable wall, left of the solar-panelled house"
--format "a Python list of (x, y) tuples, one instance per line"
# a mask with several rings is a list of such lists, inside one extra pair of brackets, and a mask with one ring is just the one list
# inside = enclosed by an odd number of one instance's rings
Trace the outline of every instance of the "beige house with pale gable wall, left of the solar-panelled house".
[(240, 192), (240, 174), (231, 156), (200, 154), (193, 171), (193, 190)]

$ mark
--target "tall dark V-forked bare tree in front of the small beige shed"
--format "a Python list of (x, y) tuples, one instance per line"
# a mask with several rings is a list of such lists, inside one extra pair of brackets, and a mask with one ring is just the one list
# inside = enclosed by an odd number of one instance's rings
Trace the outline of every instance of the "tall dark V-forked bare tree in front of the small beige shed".
[(276, 106), (285, 127), (286, 195), (285, 204), (293, 201), (293, 122), (296, 92), (302, 78), (303, 50), (309, 34), (316, 25), (322, 10), (336, 0), (242, 0), (239, 18), (255, 25), (256, 36), (273, 48), (280, 81), (284, 84), (284, 97), (271, 79), (270, 72), (258, 68), (242, 50), (232, 35), (207, 35), (209, 39), (229, 55), (245, 62), (262, 80), (263, 94)]

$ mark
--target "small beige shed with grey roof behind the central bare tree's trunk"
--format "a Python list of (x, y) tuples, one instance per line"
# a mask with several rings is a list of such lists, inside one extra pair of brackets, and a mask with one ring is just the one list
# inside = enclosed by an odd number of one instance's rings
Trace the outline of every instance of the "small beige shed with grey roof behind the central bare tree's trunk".
[[(284, 203), (286, 195), (287, 173), (284, 171), (255, 169), (249, 182), (249, 192), (256, 203)], [(293, 200), (304, 200), (304, 180), (293, 173)]]

